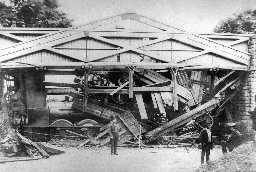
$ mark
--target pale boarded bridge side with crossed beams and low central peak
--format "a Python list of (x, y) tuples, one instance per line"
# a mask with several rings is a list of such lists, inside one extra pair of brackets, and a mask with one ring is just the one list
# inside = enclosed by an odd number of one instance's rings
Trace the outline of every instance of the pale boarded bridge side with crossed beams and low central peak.
[(31, 39), (17, 33), (10, 38), (22, 42), (0, 50), (1, 62), (116, 62), (120, 56), (121, 62), (248, 65), (250, 55), (247, 35), (187, 33), (133, 12)]

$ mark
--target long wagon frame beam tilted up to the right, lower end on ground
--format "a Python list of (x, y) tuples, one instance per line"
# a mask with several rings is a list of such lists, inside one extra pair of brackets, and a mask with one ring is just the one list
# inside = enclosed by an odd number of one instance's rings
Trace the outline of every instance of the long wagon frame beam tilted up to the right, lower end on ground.
[[(193, 120), (196, 119), (197, 117), (207, 113), (208, 111), (211, 111), (217, 106), (215, 100), (211, 100), (205, 104), (202, 104), (195, 109), (180, 115), (179, 117), (175, 118), (174, 120), (171, 120), (155, 129), (152, 131), (144, 134), (146, 139), (143, 140), (143, 143), (150, 142), (152, 140), (158, 139), (159, 136), (163, 136), (166, 133), (172, 132), (175, 128)], [(156, 135), (156, 136), (154, 136)]]

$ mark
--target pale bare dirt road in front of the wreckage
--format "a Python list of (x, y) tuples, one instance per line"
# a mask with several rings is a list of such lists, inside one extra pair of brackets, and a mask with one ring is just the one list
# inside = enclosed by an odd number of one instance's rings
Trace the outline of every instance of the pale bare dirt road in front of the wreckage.
[[(201, 150), (196, 148), (118, 148), (111, 155), (109, 147), (96, 149), (62, 148), (65, 154), (48, 159), (0, 164), (4, 172), (34, 171), (191, 171), (200, 166)], [(188, 150), (187, 150), (188, 149)], [(161, 151), (161, 152), (160, 152)], [(165, 151), (165, 152), (162, 152)], [(159, 152), (159, 153), (147, 153)], [(210, 160), (222, 154), (221, 148), (211, 150)], [(1, 157), (2, 159), (2, 157)]]

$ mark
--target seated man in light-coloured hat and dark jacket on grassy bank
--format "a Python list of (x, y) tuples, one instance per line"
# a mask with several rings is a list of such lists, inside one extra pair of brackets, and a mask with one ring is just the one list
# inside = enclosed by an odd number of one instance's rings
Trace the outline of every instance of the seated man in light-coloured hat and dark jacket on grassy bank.
[(237, 126), (235, 123), (229, 124), (229, 129), (232, 131), (231, 136), (227, 137), (227, 141), (221, 141), (222, 153), (227, 153), (228, 151), (232, 151), (234, 148), (238, 147), (242, 144), (242, 136), (239, 131), (237, 131)]

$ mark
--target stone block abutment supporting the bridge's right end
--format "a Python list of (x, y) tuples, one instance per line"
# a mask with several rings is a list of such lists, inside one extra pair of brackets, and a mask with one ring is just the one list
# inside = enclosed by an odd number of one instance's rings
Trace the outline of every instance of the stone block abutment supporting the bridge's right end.
[[(242, 85), (236, 96), (229, 104), (230, 113), (234, 123), (238, 125), (241, 133), (252, 132), (252, 120), (248, 111), (253, 111), (256, 95), (256, 36), (250, 37), (248, 52), (251, 53), (249, 71), (242, 76)], [(234, 90), (227, 90), (220, 93), (220, 101), (224, 101)], [(245, 135), (246, 136), (246, 135)], [(248, 135), (249, 136), (249, 135)]]

